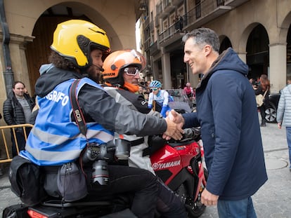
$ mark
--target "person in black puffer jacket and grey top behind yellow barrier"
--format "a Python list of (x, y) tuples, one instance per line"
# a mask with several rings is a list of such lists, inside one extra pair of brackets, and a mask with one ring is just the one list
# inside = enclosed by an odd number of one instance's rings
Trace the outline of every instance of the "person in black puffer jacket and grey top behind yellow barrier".
[[(30, 123), (30, 116), (34, 101), (25, 93), (25, 84), (20, 81), (15, 81), (13, 91), (8, 94), (8, 98), (3, 104), (3, 116), (7, 125), (17, 125)], [(27, 135), (30, 133), (30, 128), (26, 128)], [(25, 149), (25, 135), (22, 128), (15, 131), (15, 137), (18, 142), (19, 151)], [(17, 149), (13, 132), (11, 130), (12, 155), (16, 156)]]

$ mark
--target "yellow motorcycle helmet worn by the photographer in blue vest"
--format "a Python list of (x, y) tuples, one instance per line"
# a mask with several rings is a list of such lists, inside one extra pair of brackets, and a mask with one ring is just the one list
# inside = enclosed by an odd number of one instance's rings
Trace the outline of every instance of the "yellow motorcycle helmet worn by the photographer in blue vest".
[(103, 55), (110, 53), (106, 32), (86, 20), (67, 20), (58, 24), (53, 33), (51, 49), (70, 60), (78, 68), (91, 65), (90, 53), (100, 49)]

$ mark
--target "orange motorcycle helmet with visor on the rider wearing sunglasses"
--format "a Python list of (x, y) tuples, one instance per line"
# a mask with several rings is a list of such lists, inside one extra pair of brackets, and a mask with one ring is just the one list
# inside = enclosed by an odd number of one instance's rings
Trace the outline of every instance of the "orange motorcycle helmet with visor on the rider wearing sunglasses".
[(103, 62), (102, 76), (104, 81), (112, 85), (123, 86), (123, 71), (126, 67), (137, 67), (138, 70), (143, 70), (145, 67), (145, 57), (137, 50), (117, 50), (112, 52)]

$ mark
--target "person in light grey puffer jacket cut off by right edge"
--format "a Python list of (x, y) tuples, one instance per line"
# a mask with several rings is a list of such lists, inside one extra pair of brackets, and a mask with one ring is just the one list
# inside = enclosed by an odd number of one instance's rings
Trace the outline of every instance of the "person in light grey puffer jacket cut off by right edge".
[(278, 128), (286, 127), (286, 137), (289, 149), (289, 170), (291, 172), (291, 76), (287, 76), (287, 86), (283, 88), (277, 109)]

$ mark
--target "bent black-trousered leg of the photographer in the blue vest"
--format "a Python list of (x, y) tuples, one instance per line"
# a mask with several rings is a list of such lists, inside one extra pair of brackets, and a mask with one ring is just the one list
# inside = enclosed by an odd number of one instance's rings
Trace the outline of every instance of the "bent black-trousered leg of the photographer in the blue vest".
[[(138, 218), (155, 216), (159, 182), (153, 173), (124, 165), (108, 165), (108, 172), (110, 175), (108, 184), (92, 184), (89, 189), (90, 198), (131, 194), (131, 211)], [(88, 177), (91, 177), (90, 173)]]

